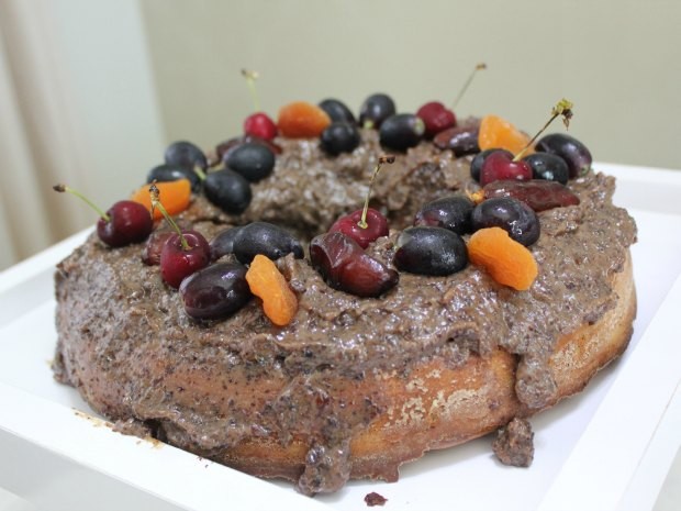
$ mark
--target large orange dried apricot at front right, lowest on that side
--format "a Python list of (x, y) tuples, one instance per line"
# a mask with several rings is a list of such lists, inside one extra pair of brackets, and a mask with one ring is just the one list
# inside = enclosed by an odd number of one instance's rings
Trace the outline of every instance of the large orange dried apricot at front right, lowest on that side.
[(468, 241), (468, 257), (499, 284), (518, 291), (529, 289), (539, 271), (532, 252), (501, 227), (476, 231)]

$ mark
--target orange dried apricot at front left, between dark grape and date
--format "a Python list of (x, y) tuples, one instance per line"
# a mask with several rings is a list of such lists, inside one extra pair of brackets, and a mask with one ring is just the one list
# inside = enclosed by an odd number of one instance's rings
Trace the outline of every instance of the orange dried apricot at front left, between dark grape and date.
[(246, 281), (256, 297), (263, 300), (265, 315), (277, 326), (286, 326), (298, 312), (298, 297), (289, 287), (277, 265), (258, 254), (246, 271)]

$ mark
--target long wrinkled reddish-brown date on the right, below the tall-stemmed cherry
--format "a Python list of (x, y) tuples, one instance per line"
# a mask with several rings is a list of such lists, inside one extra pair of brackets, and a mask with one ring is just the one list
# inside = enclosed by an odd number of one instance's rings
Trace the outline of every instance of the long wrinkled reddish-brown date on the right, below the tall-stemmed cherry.
[(577, 197), (568, 187), (556, 181), (533, 179), (531, 181), (495, 181), (483, 189), (485, 198), (513, 197), (526, 203), (534, 211), (579, 204)]

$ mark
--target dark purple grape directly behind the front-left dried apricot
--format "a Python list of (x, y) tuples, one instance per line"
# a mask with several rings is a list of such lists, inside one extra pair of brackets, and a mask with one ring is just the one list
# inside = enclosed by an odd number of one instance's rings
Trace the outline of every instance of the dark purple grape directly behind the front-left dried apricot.
[(233, 249), (236, 258), (248, 264), (257, 254), (272, 260), (293, 254), (297, 259), (304, 256), (303, 247), (287, 230), (267, 222), (252, 222), (239, 227), (234, 235)]

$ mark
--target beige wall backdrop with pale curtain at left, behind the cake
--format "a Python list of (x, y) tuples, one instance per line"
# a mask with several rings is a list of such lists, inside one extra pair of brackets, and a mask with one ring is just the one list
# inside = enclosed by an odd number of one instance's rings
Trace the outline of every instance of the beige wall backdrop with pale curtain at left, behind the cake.
[(679, 21), (678, 0), (0, 0), (0, 269), (93, 223), (54, 182), (108, 207), (169, 142), (238, 134), (244, 67), (276, 115), (450, 102), (484, 62), (459, 116), (533, 132), (567, 97), (598, 160), (681, 169)]

